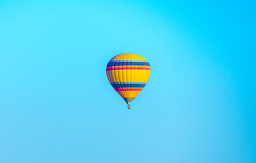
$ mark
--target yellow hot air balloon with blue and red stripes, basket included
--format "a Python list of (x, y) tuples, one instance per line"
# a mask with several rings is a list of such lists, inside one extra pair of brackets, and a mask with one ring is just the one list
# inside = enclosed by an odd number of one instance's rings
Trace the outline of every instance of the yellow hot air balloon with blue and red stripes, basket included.
[(135, 53), (114, 56), (107, 65), (108, 81), (128, 104), (142, 91), (150, 77), (148, 60)]

